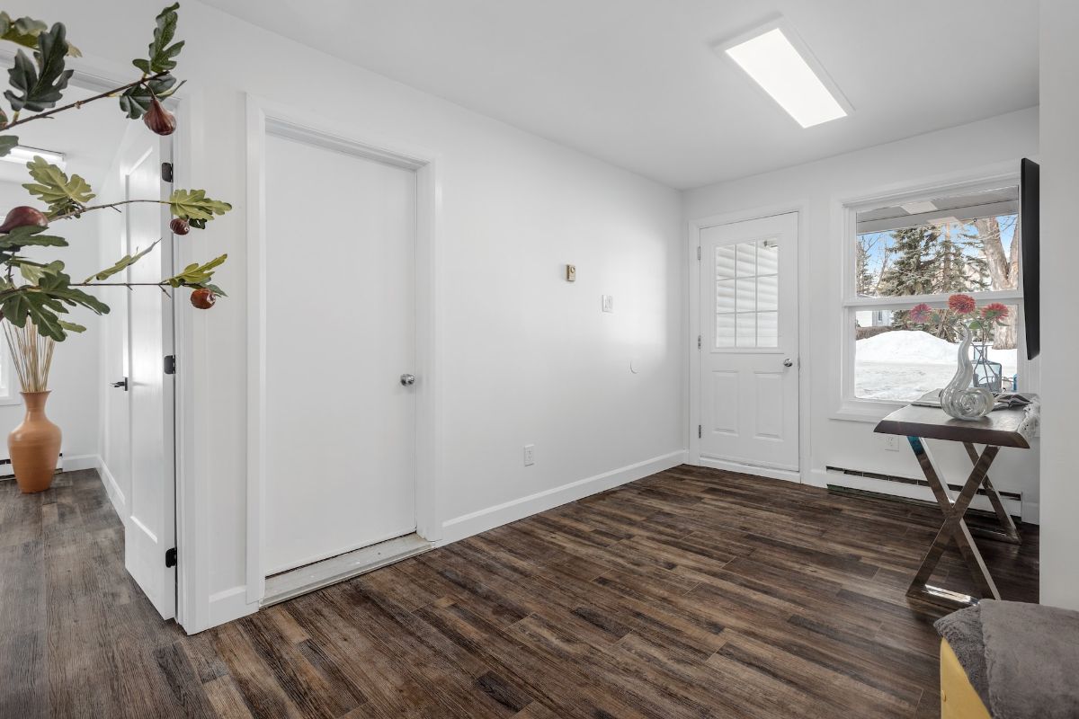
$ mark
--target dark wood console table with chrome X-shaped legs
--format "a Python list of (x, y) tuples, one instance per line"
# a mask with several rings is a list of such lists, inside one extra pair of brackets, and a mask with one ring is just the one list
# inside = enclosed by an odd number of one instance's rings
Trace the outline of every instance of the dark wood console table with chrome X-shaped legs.
[[(976, 604), (978, 598), (958, 592), (953, 592), (939, 586), (931, 586), (929, 577), (940, 562), (944, 550), (950, 541), (955, 540), (962, 555), (964, 561), (970, 568), (974, 583), (983, 598), (999, 599), (1000, 593), (997, 585), (989, 576), (989, 570), (982, 559), (981, 552), (974, 544), (971, 533), (987, 535), (994, 539), (1019, 543), (1021, 541), (1015, 523), (1005, 510), (1000, 494), (989, 480), (989, 467), (996, 459), (1000, 447), (1015, 447), (1028, 450), (1029, 440), (1037, 433), (1039, 404), (1035, 401), (1032, 404), (997, 410), (989, 413), (987, 417), (982, 417), (975, 421), (964, 421), (953, 419), (939, 406), (925, 406), (920, 402), (935, 400), (938, 392), (930, 392), (921, 398), (918, 403), (909, 404), (897, 410), (882, 419), (874, 431), (884, 434), (899, 434), (905, 437), (914, 451), (914, 456), (918, 459), (929, 488), (937, 498), (941, 513), (944, 515), (944, 523), (935, 539), (926, 552), (921, 566), (918, 568), (906, 594), (932, 604), (946, 607), (968, 606)], [(927, 440), (943, 440), (946, 442), (961, 442), (967, 451), (967, 456), (973, 468), (967, 476), (959, 496), (952, 499), (947, 483), (941, 479), (940, 472), (933, 467), (926, 451)], [(979, 454), (974, 447), (982, 444), (985, 448)], [(985, 494), (993, 504), (997, 518), (1000, 522), (999, 530), (971, 529), (967, 526), (964, 515), (970, 507), (971, 500), (980, 488), (984, 488)]]

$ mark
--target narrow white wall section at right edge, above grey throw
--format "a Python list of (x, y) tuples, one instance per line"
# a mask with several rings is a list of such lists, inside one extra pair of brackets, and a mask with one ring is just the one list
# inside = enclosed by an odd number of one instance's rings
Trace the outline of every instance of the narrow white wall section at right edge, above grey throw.
[(1079, 609), (1079, 402), (1075, 207), (1079, 197), (1079, 4), (1041, 3), (1041, 602)]

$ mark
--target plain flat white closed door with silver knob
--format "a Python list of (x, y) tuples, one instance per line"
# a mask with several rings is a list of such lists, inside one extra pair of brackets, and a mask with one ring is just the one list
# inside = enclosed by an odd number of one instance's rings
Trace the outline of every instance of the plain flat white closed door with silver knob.
[(264, 208), (269, 576), (415, 529), (416, 175), (271, 134)]

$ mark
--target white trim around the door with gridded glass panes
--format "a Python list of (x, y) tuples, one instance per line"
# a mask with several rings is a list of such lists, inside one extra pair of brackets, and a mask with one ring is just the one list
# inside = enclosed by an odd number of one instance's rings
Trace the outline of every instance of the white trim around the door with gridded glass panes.
[[(725, 462), (724, 460), (718, 460), (714, 458), (701, 459), (700, 456), (700, 439), (697, 437), (697, 426), (701, 424), (701, 404), (700, 404), (700, 352), (702, 349), (697, 348), (697, 334), (700, 332), (701, 328), (701, 307), (700, 307), (700, 260), (697, 259), (697, 248), (700, 246), (700, 231), (706, 227), (714, 227), (723, 224), (735, 224), (737, 222), (747, 222), (750, 220), (763, 220), (765, 218), (775, 217), (777, 215), (788, 215), (794, 212), (797, 215), (797, 271), (795, 273), (798, 281), (798, 321), (797, 321), (797, 358), (798, 358), (798, 469), (797, 471), (777, 471), (777, 470), (765, 470), (764, 468), (752, 467), (748, 465), (737, 465), (737, 462)], [(808, 267), (808, 238), (807, 231), (807, 219), (809, 215), (809, 201), (803, 199), (792, 203), (782, 203), (778, 205), (770, 205), (765, 207), (757, 207), (746, 210), (735, 210), (729, 212), (721, 212), (718, 215), (709, 215), (707, 217), (698, 218), (695, 220), (689, 220), (686, 223), (686, 267), (688, 274), (688, 281), (686, 282), (686, 352), (688, 355), (689, 361), (687, 362), (688, 372), (686, 377), (686, 392), (688, 395), (689, 401), (687, 402), (687, 421), (686, 421), (686, 446), (688, 447), (687, 462), (695, 465), (697, 467), (713, 467), (716, 469), (727, 469), (737, 467), (743, 468), (740, 470), (733, 471), (743, 471), (751, 474), (759, 474), (761, 476), (771, 476), (773, 479), (788, 480), (791, 482), (805, 482), (807, 473), (807, 467), (810, 461), (810, 443), (809, 443), (809, 431), (810, 431), (810, 391), (811, 387), (811, 363), (806, 355), (804, 338), (808, 336), (808, 319), (809, 313), (806, 312), (806, 307), (809, 306), (809, 282), (806, 277), (806, 269)], [(724, 467), (720, 467), (724, 465)]]

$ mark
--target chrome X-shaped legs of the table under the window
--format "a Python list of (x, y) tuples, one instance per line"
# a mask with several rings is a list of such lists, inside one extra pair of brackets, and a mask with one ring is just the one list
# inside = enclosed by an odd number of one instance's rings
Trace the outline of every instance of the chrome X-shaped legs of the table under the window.
[[(933, 490), (933, 496), (937, 498), (937, 503), (940, 504), (941, 512), (944, 513), (944, 524), (941, 525), (940, 531), (937, 533), (937, 538), (933, 539), (929, 551), (926, 552), (925, 558), (921, 559), (921, 566), (918, 568), (918, 573), (915, 575), (914, 581), (911, 582), (910, 589), (906, 590), (906, 595), (948, 607), (965, 607), (976, 604), (978, 599), (975, 597), (939, 586), (931, 586), (928, 583), (929, 577), (933, 573), (933, 569), (937, 568), (941, 556), (944, 554), (944, 550), (947, 549), (948, 542), (954, 540), (956, 547), (959, 549), (959, 553), (967, 563), (967, 567), (970, 569), (970, 575), (973, 577), (974, 584), (978, 586), (982, 597), (999, 599), (1000, 593), (997, 591), (997, 585), (989, 576), (989, 570), (985, 567), (982, 553), (978, 551), (978, 547), (970, 536), (970, 528), (967, 527), (964, 515), (970, 507), (970, 501), (978, 493), (978, 488), (982, 486), (983, 482), (987, 481), (986, 475), (989, 472), (989, 466), (996, 458), (1000, 447), (988, 445), (981, 455), (978, 455), (973, 445), (967, 445), (968, 454), (973, 453), (971, 458), (976, 457), (976, 460), (974, 461), (973, 469), (970, 471), (970, 475), (967, 478), (967, 483), (962, 485), (962, 489), (959, 492), (959, 496), (955, 501), (952, 501), (947, 487), (941, 481), (935, 468), (933, 468), (932, 462), (929, 460), (929, 454), (926, 452), (923, 440), (917, 437), (907, 437), (906, 439), (911, 443), (911, 448), (914, 450), (914, 456), (918, 458), (918, 464), (921, 466), (921, 471), (929, 482), (929, 487)], [(991, 495), (995, 494), (995, 492), (991, 493)], [(999, 497), (997, 499), (999, 501)], [(1000, 511), (1003, 511), (1002, 506)], [(1007, 513), (1005, 514), (1007, 515)], [(1008, 523), (1011, 525), (1012, 530), (1014, 530), (1015, 525), (1011, 523), (1011, 517), (1008, 517)]]

